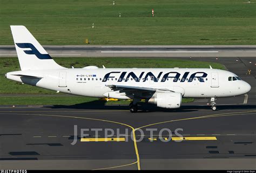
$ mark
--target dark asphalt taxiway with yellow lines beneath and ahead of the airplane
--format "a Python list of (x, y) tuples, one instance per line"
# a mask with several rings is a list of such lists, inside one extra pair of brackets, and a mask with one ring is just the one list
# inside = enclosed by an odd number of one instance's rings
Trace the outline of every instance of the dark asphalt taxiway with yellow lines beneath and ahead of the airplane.
[(183, 59), (224, 64), (252, 86), (248, 99), (136, 114), (126, 105), (1, 106), (0, 169), (256, 169), (255, 58)]

